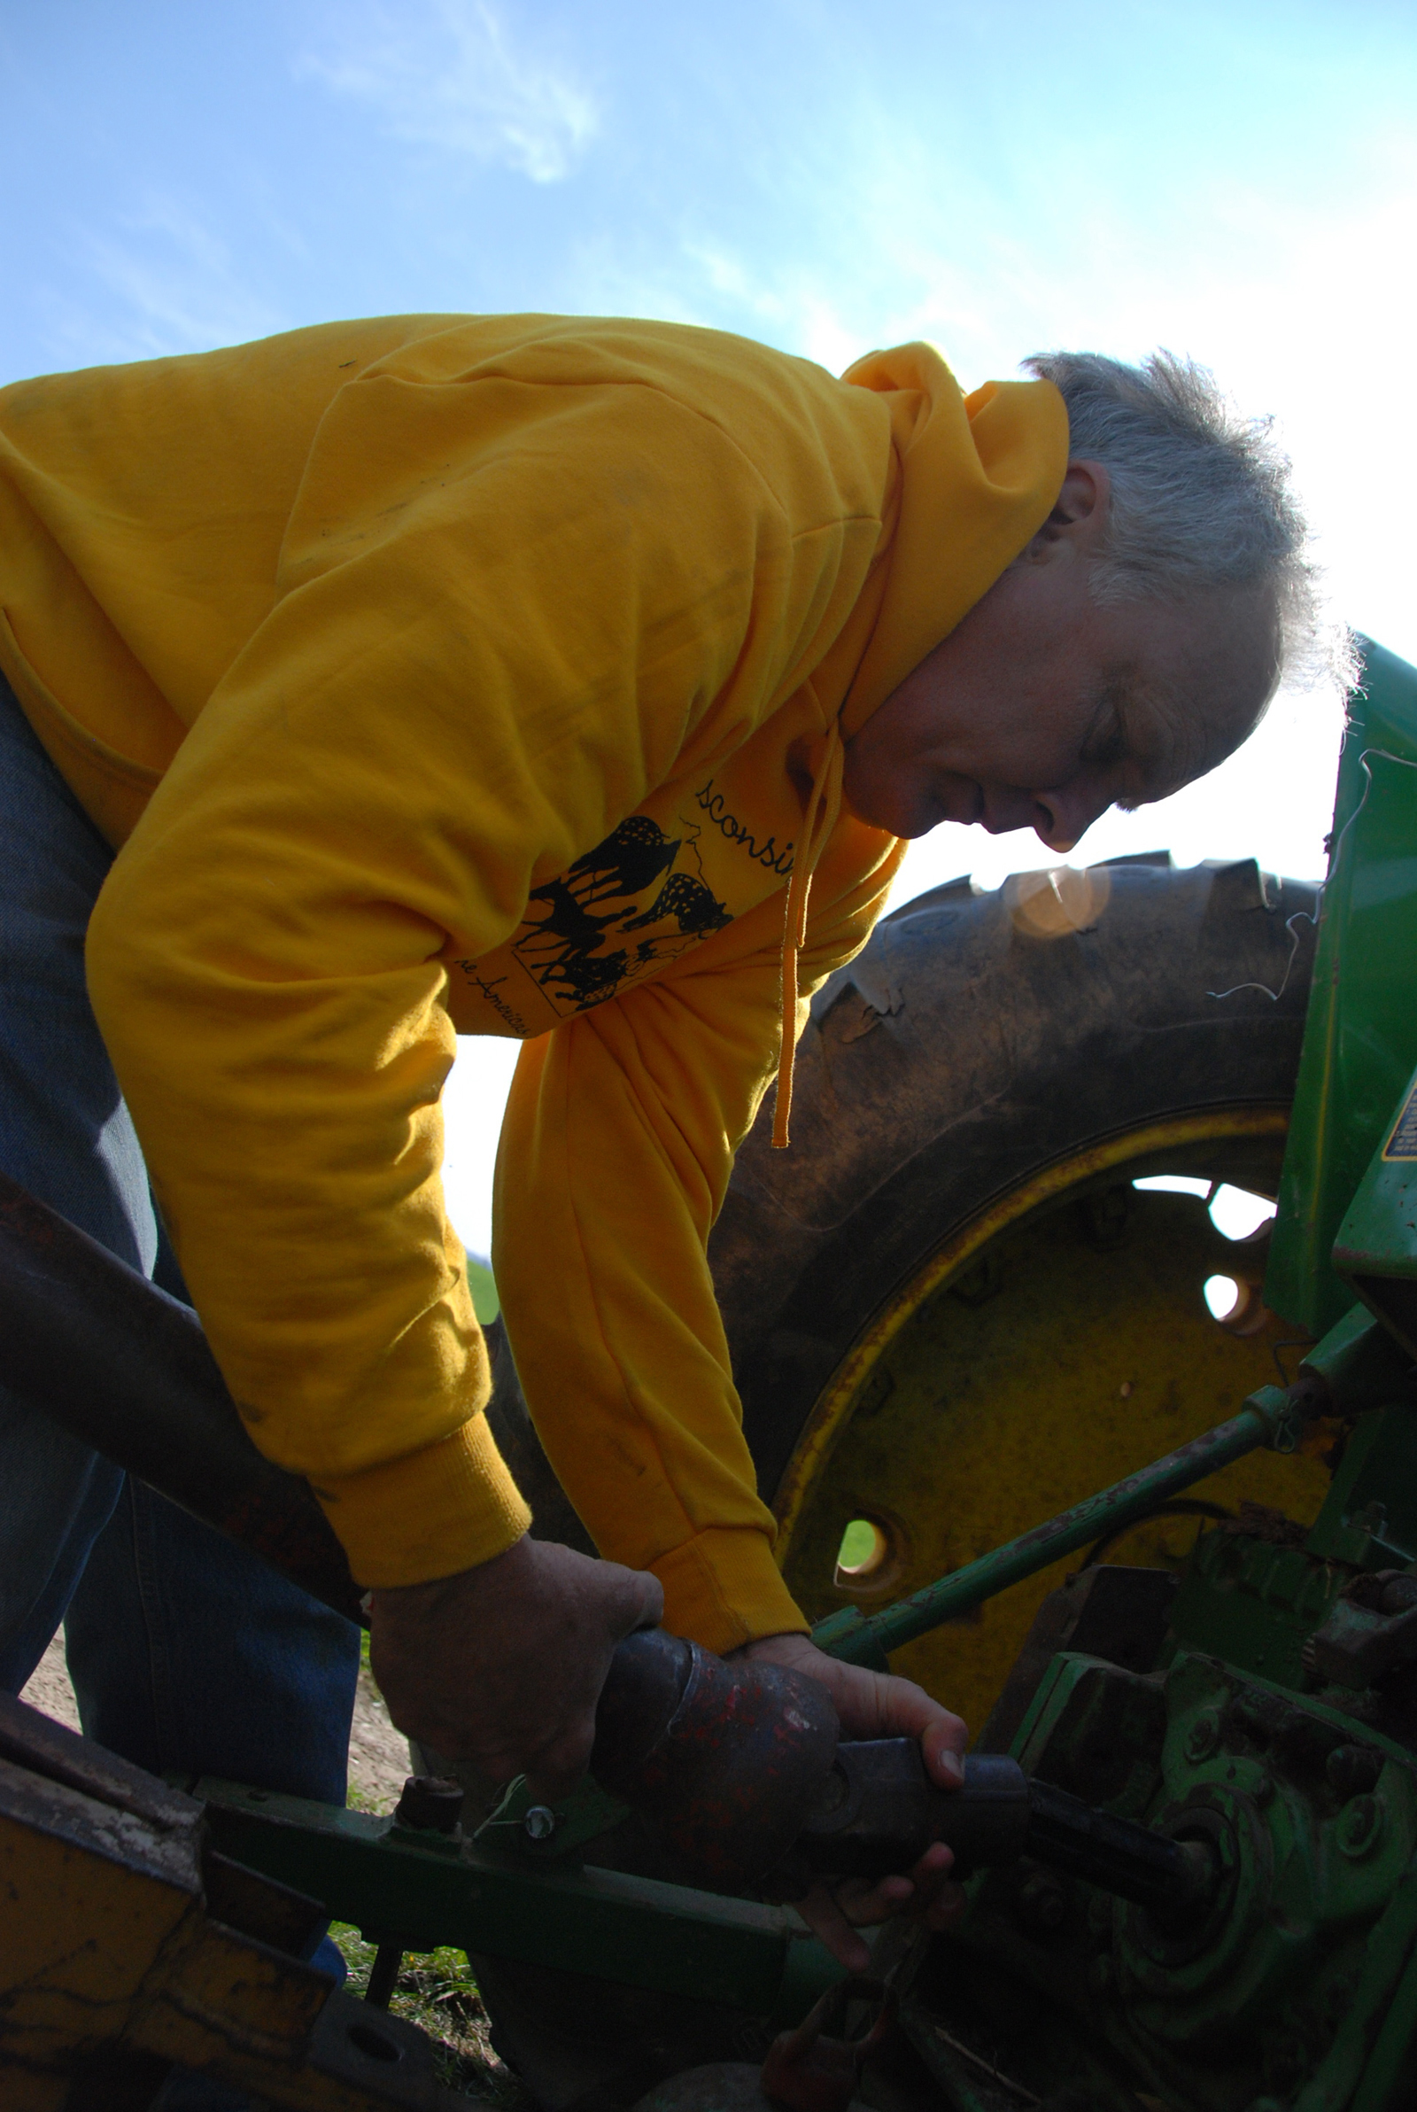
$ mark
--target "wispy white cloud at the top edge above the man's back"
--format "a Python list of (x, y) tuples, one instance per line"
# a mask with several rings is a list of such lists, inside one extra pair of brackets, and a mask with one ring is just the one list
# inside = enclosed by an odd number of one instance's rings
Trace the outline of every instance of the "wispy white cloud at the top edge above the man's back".
[(562, 63), (517, 51), (486, 0), (431, 0), (397, 21), (342, 25), (302, 74), (370, 103), (395, 139), (555, 184), (600, 131), (600, 103)]

